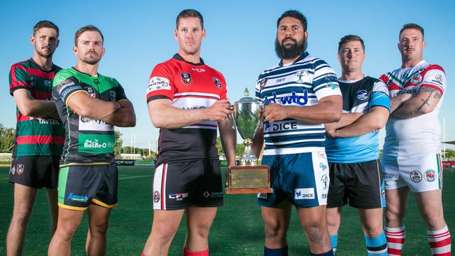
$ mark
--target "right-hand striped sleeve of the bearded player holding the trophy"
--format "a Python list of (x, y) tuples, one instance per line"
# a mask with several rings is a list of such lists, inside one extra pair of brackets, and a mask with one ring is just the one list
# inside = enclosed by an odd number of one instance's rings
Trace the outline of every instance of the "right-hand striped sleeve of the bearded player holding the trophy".
[(321, 59), (318, 59), (314, 66), (313, 90), (316, 97), (322, 99), (332, 95), (341, 96), (335, 71)]

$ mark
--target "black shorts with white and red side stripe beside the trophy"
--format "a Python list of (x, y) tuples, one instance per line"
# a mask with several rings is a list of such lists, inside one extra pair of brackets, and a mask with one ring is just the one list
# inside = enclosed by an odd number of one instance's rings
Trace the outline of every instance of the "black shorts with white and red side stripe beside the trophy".
[(223, 206), (219, 159), (164, 163), (153, 177), (153, 209)]

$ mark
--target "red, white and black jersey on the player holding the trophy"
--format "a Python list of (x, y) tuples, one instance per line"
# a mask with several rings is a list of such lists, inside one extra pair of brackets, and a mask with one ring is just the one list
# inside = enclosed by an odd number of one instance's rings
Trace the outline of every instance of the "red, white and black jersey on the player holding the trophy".
[[(215, 101), (226, 99), (225, 78), (202, 59), (200, 64), (193, 64), (176, 54), (155, 66), (151, 73), (147, 102), (155, 99), (171, 99), (172, 106), (181, 109), (208, 108)], [(157, 166), (163, 162), (218, 158), (217, 128), (217, 122), (207, 120), (179, 129), (160, 129)]]

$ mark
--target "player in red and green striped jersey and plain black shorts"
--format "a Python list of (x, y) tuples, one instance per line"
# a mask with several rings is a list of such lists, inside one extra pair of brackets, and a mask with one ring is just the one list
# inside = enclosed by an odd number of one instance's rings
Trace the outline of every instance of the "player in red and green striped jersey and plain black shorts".
[(52, 64), (59, 41), (58, 27), (42, 20), (33, 28), (31, 59), (10, 70), (10, 94), (17, 116), (13, 162), (8, 181), (14, 183), (14, 208), (6, 236), (6, 254), (21, 255), (36, 189), (46, 187), (51, 233), (57, 226), (57, 177), (64, 131), (52, 99), (52, 79), (60, 70)]

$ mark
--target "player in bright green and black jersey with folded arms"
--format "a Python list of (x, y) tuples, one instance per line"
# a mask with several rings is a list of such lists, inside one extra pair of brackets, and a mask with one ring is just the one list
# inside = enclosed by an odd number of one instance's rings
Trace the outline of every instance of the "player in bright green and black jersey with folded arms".
[(85, 209), (89, 218), (85, 251), (106, 255), (109, 215), (117, 206), (113, 126), (134, 127), (136, 116), (120, 83), (98, 73), (103, 42), (97, 27), (76, 31), (76, 66), (59, 71), (52, 84), (66, 139), (59, 170), (59, 219), (48, 255), (70, 255)]

